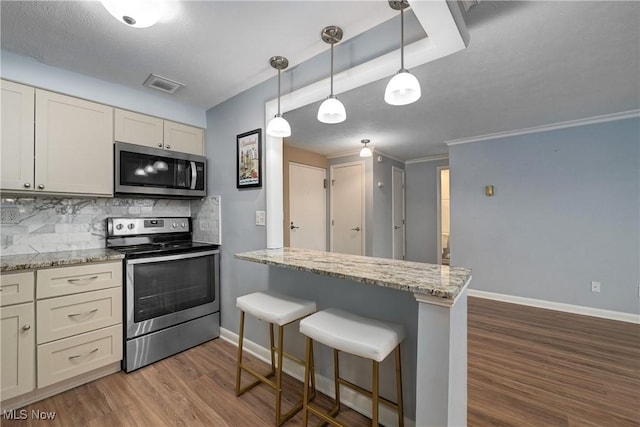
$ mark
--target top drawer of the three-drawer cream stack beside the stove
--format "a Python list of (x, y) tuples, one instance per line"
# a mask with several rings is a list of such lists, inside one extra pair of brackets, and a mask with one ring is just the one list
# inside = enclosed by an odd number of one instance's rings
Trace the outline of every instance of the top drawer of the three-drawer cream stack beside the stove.
[(122, 262), (38, 270), (36, 297), (49, 298), (122, 286)]

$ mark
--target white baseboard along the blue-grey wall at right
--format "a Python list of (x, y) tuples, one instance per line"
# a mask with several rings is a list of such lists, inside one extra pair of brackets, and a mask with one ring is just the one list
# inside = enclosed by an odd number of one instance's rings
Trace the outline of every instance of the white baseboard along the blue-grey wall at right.
[(528, 305), (531, 307), (546, 308), (548, 310), (564, 311), (567, 313), (581, 314), (583, 316), (600, 317), (602, 319), (617, 320), (620, 322), (640, 324), (640, 315), (622, 313), (619, 311), (602, 310), (599, 308), (584, 307), (581, 305), (564, 304), (561, 302), (545, 301), (533, 298), (517, 297), (513, 295), (496, 294), (493, 292), (469, 289), (470, 297), (486, 298), (496, 301), (510, 302), (512, 304)]

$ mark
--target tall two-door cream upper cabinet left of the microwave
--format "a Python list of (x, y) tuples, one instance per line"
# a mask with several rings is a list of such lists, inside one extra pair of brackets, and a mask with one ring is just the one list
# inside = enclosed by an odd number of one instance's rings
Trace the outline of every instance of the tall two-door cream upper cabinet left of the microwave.
[(112, 196), (113, 109), (1, 83), (2, 190)]

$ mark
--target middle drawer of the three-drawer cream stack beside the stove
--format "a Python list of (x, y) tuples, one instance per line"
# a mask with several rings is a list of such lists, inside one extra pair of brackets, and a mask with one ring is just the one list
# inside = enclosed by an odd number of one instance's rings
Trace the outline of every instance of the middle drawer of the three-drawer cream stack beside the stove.
[(122, 323), (122, 289), (109, 288), (40, 300), (38, 344)]

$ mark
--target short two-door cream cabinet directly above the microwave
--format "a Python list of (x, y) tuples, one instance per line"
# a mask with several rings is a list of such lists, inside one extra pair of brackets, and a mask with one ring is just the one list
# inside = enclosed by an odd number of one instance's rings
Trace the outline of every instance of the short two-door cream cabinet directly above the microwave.
[(115, 140), (204, 155), (204, 131), (157, 117), (115, 110)]

